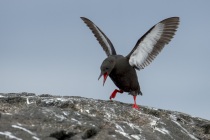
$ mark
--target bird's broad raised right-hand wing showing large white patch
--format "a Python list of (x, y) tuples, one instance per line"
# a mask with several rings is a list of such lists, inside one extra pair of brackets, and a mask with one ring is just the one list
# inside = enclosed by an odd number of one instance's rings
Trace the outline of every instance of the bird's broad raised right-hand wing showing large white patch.
[(137, 69), (148, 66), (163, 47), (173, 38), (179, 25), (179, 17), (162, 20), (147, 31), (126, 56), (129, 64)]

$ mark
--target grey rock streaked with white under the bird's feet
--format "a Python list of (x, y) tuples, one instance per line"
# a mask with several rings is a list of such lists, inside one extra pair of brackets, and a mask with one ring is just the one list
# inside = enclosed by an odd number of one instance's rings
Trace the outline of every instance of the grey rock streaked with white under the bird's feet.
[(0, 93), (0, 139), (210, 140), (210, 121), (117, 101)]

